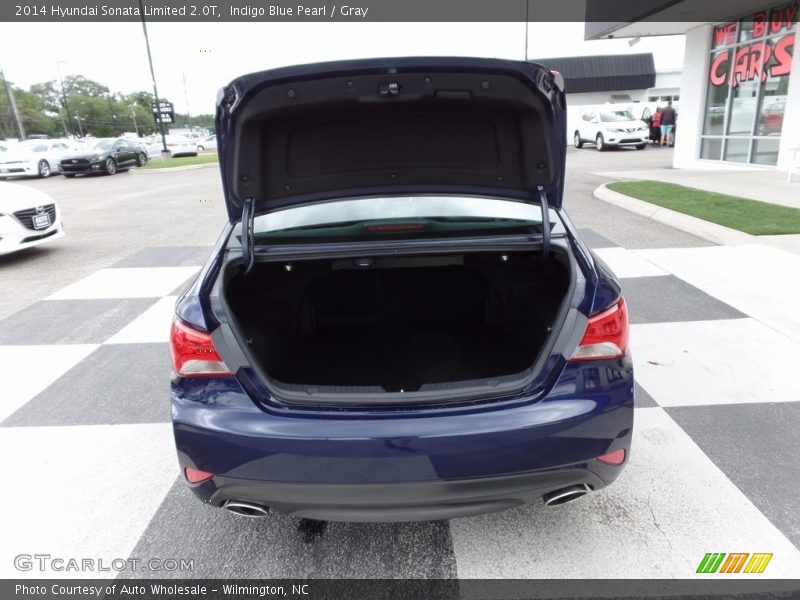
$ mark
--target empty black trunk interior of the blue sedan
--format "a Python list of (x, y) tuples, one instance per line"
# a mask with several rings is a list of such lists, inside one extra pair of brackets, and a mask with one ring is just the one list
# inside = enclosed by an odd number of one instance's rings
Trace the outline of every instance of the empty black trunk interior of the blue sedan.
[(569, 289), (569, 261), (534, 252), (231, 266), (225, 299), (278, 384), (416, 392), (533, 367)]

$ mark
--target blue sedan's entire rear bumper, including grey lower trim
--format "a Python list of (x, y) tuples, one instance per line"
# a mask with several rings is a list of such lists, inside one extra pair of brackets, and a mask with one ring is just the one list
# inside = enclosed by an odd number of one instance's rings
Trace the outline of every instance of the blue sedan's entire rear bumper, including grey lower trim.
[(596, 458), (630, 448), (633, 373), (629, 358), (567, 364), (543, 399), (363, 413), (268, 408), (232, 377), (177, 379), (172, 415), (181, 469), (215, 474), (191, 486), (214, 506), (439, 519), (613, 481), (622, 467)]

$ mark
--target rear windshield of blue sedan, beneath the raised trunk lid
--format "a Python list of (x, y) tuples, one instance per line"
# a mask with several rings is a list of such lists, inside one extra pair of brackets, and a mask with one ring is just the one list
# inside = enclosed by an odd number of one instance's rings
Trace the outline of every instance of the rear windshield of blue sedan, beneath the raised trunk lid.
[[(557, 217), (551, 211), (551, 223)], [(541, 233), (538, 205), (491, 198), (404, 196), (340, 200), (256, 217), (257, 243)]]

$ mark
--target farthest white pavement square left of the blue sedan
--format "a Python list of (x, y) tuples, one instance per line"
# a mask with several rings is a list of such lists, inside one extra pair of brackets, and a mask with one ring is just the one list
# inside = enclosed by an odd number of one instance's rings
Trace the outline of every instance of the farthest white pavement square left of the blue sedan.
[(47, 300), (76, 298), (157, 298), (197, 272), (198, 267), (141, 267), (101, 269), (48, 296)]

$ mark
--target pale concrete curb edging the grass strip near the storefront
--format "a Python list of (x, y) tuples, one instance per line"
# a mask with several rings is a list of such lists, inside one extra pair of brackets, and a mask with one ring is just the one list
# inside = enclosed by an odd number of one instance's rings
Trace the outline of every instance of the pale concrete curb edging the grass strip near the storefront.
[(680, 229), (681, 231), (685, 231), (686, 233), (690, 233), (715, 244), (735, 246), (738, 244), (753, 244), (758, 242), (756, 236), (750, 235), (749, 233), (730, 229), (729, 227), (717, 225), (716, 223), (710, 223), (709, 221), (704, 221), (697, 217), (685, 215), (670, 210), (669, 208), (662, 208), (661, 206), (650, 204), (644, 200), (638, 200), (631, 196), (620, 194), (619, 192), (608, 189), (606, 184), (598, 186), (592, 193), (594, 197), (599, 200), (608, 202), (619, 208), (624, 208), (627, 211), (647, 217), (648, 219), (653, 219), (659, 223), (664, 223), (675, 229)]

